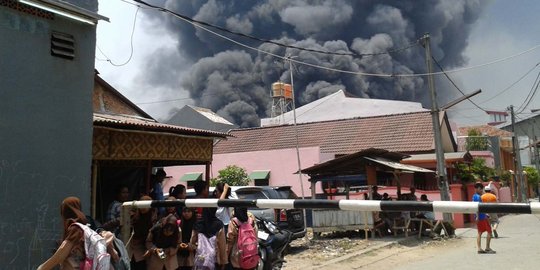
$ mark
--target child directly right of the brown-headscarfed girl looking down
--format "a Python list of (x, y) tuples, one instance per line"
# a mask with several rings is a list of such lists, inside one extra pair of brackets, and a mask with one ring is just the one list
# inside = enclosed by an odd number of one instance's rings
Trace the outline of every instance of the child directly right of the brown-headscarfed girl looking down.
[(195, 225), (195, 214), (192, 208), (185, 207), (182, 210), (180, 221), (181, 243), (178, 248), (178, 266), (180, 270), (188, 270), (193, 267), (193, 257), (196, 246), (191, 245), (191, 234)]

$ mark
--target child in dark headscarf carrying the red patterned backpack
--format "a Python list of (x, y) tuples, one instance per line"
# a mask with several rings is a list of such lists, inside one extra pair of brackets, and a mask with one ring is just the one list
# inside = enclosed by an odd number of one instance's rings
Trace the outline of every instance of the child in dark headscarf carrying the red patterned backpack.
[(227, 251), (229, 260), (234, 269), (242, 269), (239, 263), (238, 252), (238, 226), (240, 224), (249, 222), (253, 227), (255, 234), (257, 233), (257, 223), (252, 215), (248, 214), (247, 208), (235, 207), (234, 218), (229, 223), (229, 231), (227, 232)]

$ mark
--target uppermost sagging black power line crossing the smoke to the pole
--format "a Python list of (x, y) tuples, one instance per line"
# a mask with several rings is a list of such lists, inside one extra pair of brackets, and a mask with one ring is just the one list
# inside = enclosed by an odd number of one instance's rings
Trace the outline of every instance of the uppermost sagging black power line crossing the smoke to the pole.
[(378, 52), (378, 53), (356, 53), (356, 52), (344, 52), (344, 53), (342, 53), (342, 52), (322, 51), (322, 50), (317, 50), (317, 49), (309, 49), (309, 48), (303, 48), (303, 47), (298, 47), (298, 46), (294, 46), (294, 45), (284, 44), (284, 43), (273, 41), (273, 40), (270, 40), (270, 39), (259, 38), (259, 37), (244, 34), (244, 33), (241, 33), (241, 32), (231, 31), (231, 30), (229, 30), (227, 28), (224, 28), (224, 27), (221, 27), (221, 26), (217, 26), (217, 25), (213, 25), (213, 24), (210, 24), (210, 23), (207, 23), (207, 22), (204, 22), (204, 21), (199, 21), (199, 20), (193, 19), (191, 17), (188, 17), (186, 15), (182, 15), (180, 13), (174, 12), (174, 11), (172, 11), (170, 9), (167, 9), (167, 8), (164, 8), (164, 7), (159, 7), (159, 6), (155, 6), (155, 5), (152, 5), (152, 4), (148, 4), (148, 3), (146, 3), (146, 2), (144, 2), (142, 0), (133, 0), (133, 1), (135, 1), (137, 3), (140, 3), (140, 4), (143, 4), (143, 5), (146, 5), (148, 7), (157, 9), (157, 10), (165, 12), (165, 13), (173, 14), (173, 15), (175, 15), (177, 17), (180, 17), (180, 18), (182, 18), (184, 20), (187, 20), (189, 22), (197, 23), (197, 24), (207, 26), (207, 27), (211, 27), (211, 28), (217, 29), (219, 31), (226, 32), (226, 33), (229, 33), (229, 34), (233, 34), (233, 35), (236, 35), (236, 36), (240, 36), (240, 37), (243, 37), (243, 38), (248, 38), (248, 39), (263, 42), (263, 43), (270, 43), (270, 44), (274, 44), (274, 45), (277, 45), (277, 46), (280, 46), (280, 47), (285, 47), (285, 48), (290, 48), (290, 49), (297, 49), (297, 50), (301, 50), (301, 51), (308, 51), (308, 52), (314, 52), (314, 53), (320, 53), (320, 54), (346, 55), (346, 56), (357, 56), (357, 57), (377, 56), (377, 55), (386, 55), (386, 54), (391, 54), (391, 53), (398, 53), (398, 52), (410, 49), (410, 48), (412, 48), (414, 46), (417, 46), (419, 44), (418, 40), (415, 40), (415, 41), (405, 45), (402, 48), (397, 48), (397, 49), (394, 49), (394, 50), (388, 50), (388, 51)]

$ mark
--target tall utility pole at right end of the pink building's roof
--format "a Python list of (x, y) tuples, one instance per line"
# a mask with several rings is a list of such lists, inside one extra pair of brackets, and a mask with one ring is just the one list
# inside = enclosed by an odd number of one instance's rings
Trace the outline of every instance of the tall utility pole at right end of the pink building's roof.
[[(435, 82), (433, 81), (433, 65), (431, 63), (431, 47), (429, 34), (422, 37), (423, 46), (426, 49), (426, 65), (429, 75), (428, 86), (431, 92), (431, 118), (433, 120), (433, 133), (435, 135), (435, 155), (437, 158), (437, 180), (441, 192), (442, 201), (450, 201), (448, 190), (448, 176), (446, 175), (446, 162), (444, 160), (444, 149), (441, 137), (441, 123), (439, 119), (439, 106), (437, 105), (437, 94), (435, 92)], [(444, 221), (451, 222), (452, 214), (443, 213)]]

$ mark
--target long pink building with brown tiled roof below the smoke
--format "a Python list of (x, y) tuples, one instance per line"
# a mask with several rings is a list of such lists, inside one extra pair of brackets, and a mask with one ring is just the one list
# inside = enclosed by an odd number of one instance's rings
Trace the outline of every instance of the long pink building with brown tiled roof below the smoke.
[[(441, 114), (441, 129), (444, 151), (455, 152), (456, 144), (445, 113)], [(254, 178), (266, 177), (254, 179), (254, 185), (288, 185), (300, 196), (300, 179), (295, 174), (298, 171), (295, 130), (298, 132), (301, 168), (368, 148), (404, 154), (435, 151), (429, 111), (303, 123), (296, 128), (294, 125), (281, 125), (238, 129), (232, 130), (232, 136), (227, 140), (215, 145), (210, 177), (216, 177), (218, 171), (227, 165), (237, 165)], [(172, 185), (185, 185), (181, 179), (186, 175), (197, 173), (202, 177), (205, 171), (203, 166), (176, 166), (165, 170), (172, 176), (165, 183), (166, 190)], [(392, 184), (388, 179), (378, 181), (382, 185)], [(415, 185), (415, 181), (425, 182), (426, 179), (407, 176), (403, 177), (403, 181), (403, 186), (407, 187)], [(310, 183), (305, 175), (302, 176), (302, 184), (303, 193), (309, 197)], [(322, 192), (320, 186), (316, 192)]]

